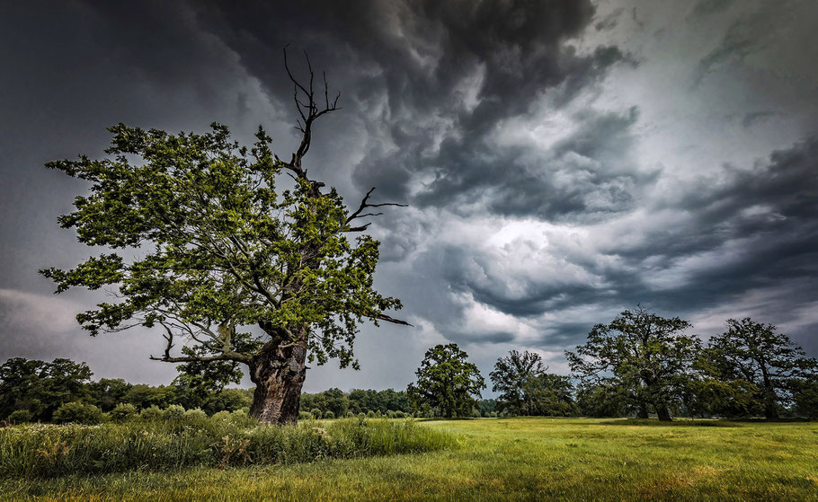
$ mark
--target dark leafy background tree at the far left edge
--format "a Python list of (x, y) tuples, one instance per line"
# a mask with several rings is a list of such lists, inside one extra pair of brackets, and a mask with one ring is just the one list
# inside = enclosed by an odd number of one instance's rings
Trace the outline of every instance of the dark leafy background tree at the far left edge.
[(88, 365), (69, 359), (12, 357), (0, 365), (0, 418), (28, 410), (32, 419), (49, 421), (63, 404), (88, 397), (85, 385), (92, 375)]

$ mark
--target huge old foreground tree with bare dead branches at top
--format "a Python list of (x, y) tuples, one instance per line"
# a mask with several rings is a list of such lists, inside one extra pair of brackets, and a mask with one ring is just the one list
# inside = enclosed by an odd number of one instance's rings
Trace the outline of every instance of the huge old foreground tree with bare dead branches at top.
[[(371, 189), (350, 211), (335, 189), (307, 175), (313, 125), (338, 110), (338, 98), (329, 99), (326, 82), (316, 92), (311, 68), (308, 84), (299, 83), (286, 53), (285, 67), (301, 133), (289, 161), (272, 153), (262, 128), (248, 148), (218, 124), (178, 135), (120, 124), (110, 128), (108, 157), (47, 164), (91, 183), (60, 225), (114, 252), (41, 270), (58, 292), (115, 286), (117, 301), (77, 315), (92, 335), (156, 327), (165, 339), (157, 360), (249, 366), (251, 414), (277, 424), (298, 419), (307, 360), (338, 357), (357, 367), (361, 321), (406, 324), (384, 313), (400, 302), (372, 286), (378, 242), (348, 237), (366, 231), (360, 218), (379, 214), (370, 208), (390, 204), (371, 203)], [(285, 175), (294, 186), (280, 190)], [(181, 354), (180, 339), (188, 344)]]

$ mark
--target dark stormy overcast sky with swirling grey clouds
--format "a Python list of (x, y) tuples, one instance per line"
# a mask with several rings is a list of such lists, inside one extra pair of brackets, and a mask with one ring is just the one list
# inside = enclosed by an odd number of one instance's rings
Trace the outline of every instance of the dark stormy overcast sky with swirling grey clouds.
[(305, 390), (405, 388), (448, 341), (486, 377), (512, 348), (566, 373), (637, 303), (704, 338), (751, 316), (818, 355), (816, 19), (814, 0), (4, 2), (0, 361), (173, 378), (158, 332), (92, 339), (74, 315), (99, 296), (37, 274), (94, 251), (56, 223), (86, 186), (43, 164), (101, 156), (119, 122), (263, 124), (283, 158), (286, 44), (342, 93), (310, 173), (350, 206), (373, 186), (410, 205), (371, 228), (414, 328), (364, 328), (361, 370)]

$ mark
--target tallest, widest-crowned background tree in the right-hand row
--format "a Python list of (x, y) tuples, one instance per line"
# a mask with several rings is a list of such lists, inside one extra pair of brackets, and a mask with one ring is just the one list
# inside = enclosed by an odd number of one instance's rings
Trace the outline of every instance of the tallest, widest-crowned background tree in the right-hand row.
[(565, 351), (573, 374), (586, 385), (615, 386), (647, 416), (652, 406), (662, 421), (680, 403), (700, 342), (686, 336), (688, 321), (665, 319), (642, 306), (597, 324), (576, 352)]

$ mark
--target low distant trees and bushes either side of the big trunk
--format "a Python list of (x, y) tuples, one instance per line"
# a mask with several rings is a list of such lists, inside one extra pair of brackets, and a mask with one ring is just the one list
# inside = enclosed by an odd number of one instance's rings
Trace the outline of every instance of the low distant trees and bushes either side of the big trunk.
[[(0, 420), (24, 422), (99, 422), (123, 414), (158, 414), (182, 407), (208, 415), (246, 409), (252, 389), (226, 387), (238, 383), (235, 367), (180, 365), (169, 385), (128, 383), (121, 378), (92, 380), (85, 363), (57, 358), (51, 362), (12, 357), (0, 365)], [(373, 417), (404, 417), (411, 412), (404, 391), (353, 389), (302, 393), (302, 418), (336, 418), (363, 413)]]

